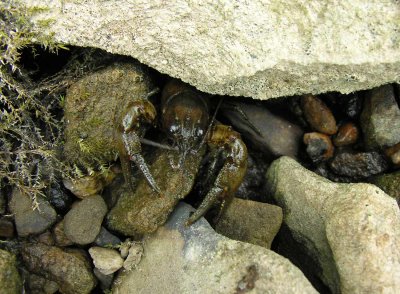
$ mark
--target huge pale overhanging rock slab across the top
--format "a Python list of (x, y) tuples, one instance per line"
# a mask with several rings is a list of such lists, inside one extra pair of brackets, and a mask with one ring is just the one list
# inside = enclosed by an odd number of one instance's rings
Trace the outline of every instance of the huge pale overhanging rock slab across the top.
[[(400, 80), (396, 0), (27, 0), (58, 42), (130, 55), (198, 89), (258, 99)], [(43, 23), (43, 22), (42, 22)]]

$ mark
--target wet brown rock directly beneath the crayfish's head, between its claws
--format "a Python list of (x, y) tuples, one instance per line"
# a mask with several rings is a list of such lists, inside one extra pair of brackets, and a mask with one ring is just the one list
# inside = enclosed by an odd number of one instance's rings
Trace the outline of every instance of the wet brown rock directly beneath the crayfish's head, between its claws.
[(152, 233), (165, 223), (178, 201), (192, 189), (200, 167), (200, 156), (188, 154), (185, 165), (174, 169), (170, 159), (177, 162), (178, 154), (158, 150), (156, 155), (150, 171), (164, 196), (157, 196), (143, 178), (134, 193), (127, 186), (122, 187), (117, 204), (107, 215), (110, 229), (127, 236)]

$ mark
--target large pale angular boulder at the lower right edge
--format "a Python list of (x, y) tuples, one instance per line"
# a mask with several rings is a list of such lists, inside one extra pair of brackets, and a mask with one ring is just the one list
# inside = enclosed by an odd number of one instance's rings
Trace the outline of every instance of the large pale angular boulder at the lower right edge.
[(294, 238), (322, 268), (333, 293), (396, 293), (400, 289), (400, 212), (370, 184), (335, 184), (288, 157), (274, 161), (267, 181)]

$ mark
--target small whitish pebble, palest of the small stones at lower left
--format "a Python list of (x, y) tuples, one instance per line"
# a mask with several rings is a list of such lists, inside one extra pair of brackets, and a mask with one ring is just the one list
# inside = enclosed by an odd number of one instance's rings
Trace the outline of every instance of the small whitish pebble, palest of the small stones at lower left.
[(124, 260), (118, 251), (110, 248), (91, 247), (89, 254), (93, 259), (94, 266), (103, 274), (115, 273), (124, 265)]

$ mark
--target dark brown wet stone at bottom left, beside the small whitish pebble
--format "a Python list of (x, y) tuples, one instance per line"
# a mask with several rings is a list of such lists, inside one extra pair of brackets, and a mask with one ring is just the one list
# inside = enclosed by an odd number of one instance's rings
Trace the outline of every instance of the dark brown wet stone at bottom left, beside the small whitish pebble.
[(61, 293), (87, 294), (96, 286), (90, 262), (81, 250), (26, 243), (21, 254), (30, 272), (55, 281)]

